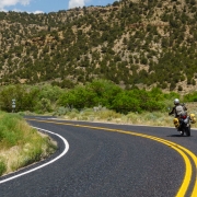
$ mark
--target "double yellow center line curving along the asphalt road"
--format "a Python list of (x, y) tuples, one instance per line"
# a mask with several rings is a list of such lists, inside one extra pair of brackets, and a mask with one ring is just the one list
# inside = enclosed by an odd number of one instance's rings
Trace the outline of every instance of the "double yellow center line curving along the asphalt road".
[[(177, 151), (182, 155), (182, 158), (185, 161), (185, 165), (186, 165), (185, 176), (184, 176), (183, 183), (182, 183), (182, 185), (181, 185), (181, 187), (176, 194), (176, 197), (184, 197), (186, 195), (187, 189), (188, 189), (189, 184), (190, 184), (193, 170), (192, 170), (192, 163), (190, 163), (188, 155), (194, 161), (195, 171), (197, 171), (197, 157), (192, 151), (189, 151), (188, 149), (186, 149), (186, 148), (184, 148), (177, 143), (174, 143), (174, 142), (169, 141), (169, 140), (164, 140), (162, 138), (158, 138), (158, 137), (153, 137), (153, 136), (149, 136), (149, 135), (143, 135), (143, 134), (138, 134), (138, 132), (134, 132), (134, 131), (111, 129), (111, 128), (105, 128), (105, 127), (93, 127), (93, 126), (88, 126), (88, 125), (74, 125), (74, 124), (69, 124), (69, 123), (58, 123), (58, 121), (49, 121), (49, 120), (40, 120), (40, 119), (39, 120), (38, 119), (27, 119), (27, 120), (51, 123), (51, 124), (57, 124), (57, 125), (68, 125), (68, 126), (74, 126), (74, 127), (85, 127), (85, 128), (91, 128), (91, 129), (100, 129), (100, 130), (105, 130), (105, 131), (113, 131), (113, 132), (119, 132), (119, 134), (125, 134), (125, 135), (131, 135), (131, 136), (151, 139), (151, 140), (161, 142), (161, 143), (174, 149), (175, 151)], [(197, 197), (197, 176), (195, 179), (195, 185), (194, 185), (190, 197)]]

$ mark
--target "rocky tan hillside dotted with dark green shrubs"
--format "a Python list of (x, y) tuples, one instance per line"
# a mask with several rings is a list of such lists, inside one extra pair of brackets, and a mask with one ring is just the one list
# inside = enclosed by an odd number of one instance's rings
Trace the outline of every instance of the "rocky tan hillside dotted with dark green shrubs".
[(0, 12), (0, 84), (189, 92), (197, 80), (197, 1), (121, 0), (48, 14)]

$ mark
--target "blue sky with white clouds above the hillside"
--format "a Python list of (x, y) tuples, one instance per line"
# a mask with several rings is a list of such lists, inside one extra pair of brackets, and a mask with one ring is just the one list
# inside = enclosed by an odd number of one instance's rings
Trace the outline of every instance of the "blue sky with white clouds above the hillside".
[(115, 1), (116, 0), (0, 0), (0, 11), (49, 13), (79, 7), (105, 7), (113, 4)]

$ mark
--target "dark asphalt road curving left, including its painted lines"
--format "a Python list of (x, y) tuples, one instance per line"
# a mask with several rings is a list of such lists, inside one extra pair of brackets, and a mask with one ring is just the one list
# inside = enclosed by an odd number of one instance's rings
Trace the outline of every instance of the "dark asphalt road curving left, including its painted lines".
[(26, 117), (59, 149), (0, 178), (1, 197), (174, 197), (197, 190), (197, 131)]

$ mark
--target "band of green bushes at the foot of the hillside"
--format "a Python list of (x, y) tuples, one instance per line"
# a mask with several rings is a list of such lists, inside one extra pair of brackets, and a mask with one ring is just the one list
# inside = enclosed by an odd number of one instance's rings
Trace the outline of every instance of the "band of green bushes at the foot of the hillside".
[[(162, 111), (165, 107), (163, 103), (175, 97), (179, 97), (179, 94), (164, 94), (159, 88), (146, 91), (128, 86), (124, 90), (112, 81), (96, 79), (71, 90), (51, 85), (9, 85), (0, 91), (0, 105), (3, 111), (11, 112), (11, 101), (15, 99), (15, 112), (53, 113), (60, 116), (69, 113), (71, 108), (81, 111), (99, 105), (121, 113), (140, 113)], [(187, 97), (185, 99), (188, 100)], [(197, 101), (195, 94), (189, 101)]]

